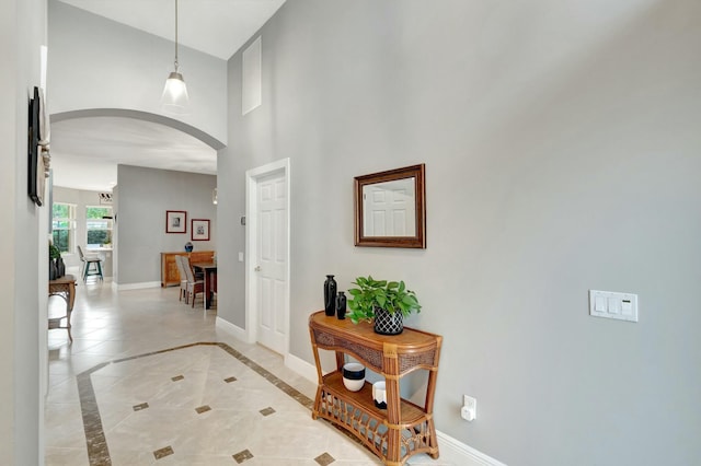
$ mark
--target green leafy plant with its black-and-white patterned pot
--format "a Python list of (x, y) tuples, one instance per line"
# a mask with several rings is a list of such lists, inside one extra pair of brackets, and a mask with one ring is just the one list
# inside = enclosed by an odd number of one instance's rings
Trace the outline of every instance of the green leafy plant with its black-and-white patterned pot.
[(375, 280), (368, 276), (356, 278), (353, 284), (358, 288), (348, 290), (348, 317), (354, 324), (374, 319), (378, 334), (401, 334), (403, 317), (421, 312), (416, 293), (406, 289), (403, 281)]

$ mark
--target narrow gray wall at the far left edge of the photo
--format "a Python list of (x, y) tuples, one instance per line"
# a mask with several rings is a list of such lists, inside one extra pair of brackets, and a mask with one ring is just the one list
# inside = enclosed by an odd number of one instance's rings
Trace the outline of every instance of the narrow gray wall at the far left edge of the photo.
[[(0, 15), (0, 458), (43, 464), (47, 212), (27, 197), (27, 102), (46, 40), (42, 0), (7, 1)], [(44, 220), (42, 220), (44, 219)], [(42, 225), (44, 229), (42, 229)]]

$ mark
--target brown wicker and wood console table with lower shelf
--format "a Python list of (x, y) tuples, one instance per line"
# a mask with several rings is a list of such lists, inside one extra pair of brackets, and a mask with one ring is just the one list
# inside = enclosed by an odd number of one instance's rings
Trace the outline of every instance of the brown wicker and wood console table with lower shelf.
[[(433, 409), (443, 337), (406, 327), (400, 335), (378, 335), (371, 324), (354, 325), (323, 311), (309, 317), (309, 333), (319, 375), (313, 419), (327, 419), (352, 432), (387, 465), (403, 465), (417, 453), (438, 458)], [(319, 348), (336, 352), (335, 371), (322, 374)], [(387, 409), (375, 406), (369, 382), (359, 392), (345, 388), (345, 354), (384, 376)], [(428, 371), (424, 407), (400, 396), (400, 378), (418, 369)]]

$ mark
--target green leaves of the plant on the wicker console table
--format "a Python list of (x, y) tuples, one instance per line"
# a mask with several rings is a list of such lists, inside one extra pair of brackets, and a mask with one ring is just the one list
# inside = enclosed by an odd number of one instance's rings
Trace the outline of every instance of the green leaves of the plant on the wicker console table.
[(374, 318), (376, 307), (391, 314), (401, 312), (404, 316), (421, 312), (416, 293), (407, 290), (403, 281), (375, 280), (368, 276), (356, 278), (353, 284), (358, 287), (348, 290), (348, 317), (354, 324)]

